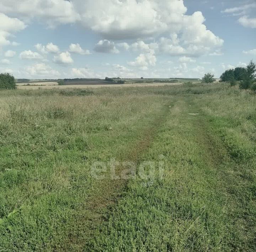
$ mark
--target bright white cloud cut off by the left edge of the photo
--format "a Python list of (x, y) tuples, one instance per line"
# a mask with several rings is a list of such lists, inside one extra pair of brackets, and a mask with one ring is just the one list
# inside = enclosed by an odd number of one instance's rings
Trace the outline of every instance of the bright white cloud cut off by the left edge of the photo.
[(13, 33), (25, 29), (25, 27), (25, 23), (18, 18), (10, 18), (4, 13), (0, 13), (0, 48), (2, 45), (11, 44), (8, 38), (11, 37)]

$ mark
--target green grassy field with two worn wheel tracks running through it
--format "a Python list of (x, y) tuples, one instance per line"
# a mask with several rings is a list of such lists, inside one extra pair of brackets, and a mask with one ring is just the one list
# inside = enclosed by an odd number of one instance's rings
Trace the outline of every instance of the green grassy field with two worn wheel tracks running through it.
[(255, 95), (17, 89), (0, 104), (0, 251), (256, 251)]

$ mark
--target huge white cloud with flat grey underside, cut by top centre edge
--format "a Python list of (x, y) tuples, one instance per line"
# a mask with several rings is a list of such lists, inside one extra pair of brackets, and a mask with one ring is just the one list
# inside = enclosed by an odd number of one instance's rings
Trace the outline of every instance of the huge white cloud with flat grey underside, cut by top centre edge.
[[(81, 22), (108, 39), (150, 36), (174, 29), (187, 11), (183, 1), (74, 1)], [(106, 11), (108, 10), (108, 11)]]

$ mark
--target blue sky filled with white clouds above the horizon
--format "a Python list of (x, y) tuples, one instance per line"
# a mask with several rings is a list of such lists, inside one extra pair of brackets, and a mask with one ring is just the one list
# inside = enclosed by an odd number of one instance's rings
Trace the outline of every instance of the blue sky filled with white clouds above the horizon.
[(15, 78), (219, 78), (256, 59), (256, 0), (1, 0)]

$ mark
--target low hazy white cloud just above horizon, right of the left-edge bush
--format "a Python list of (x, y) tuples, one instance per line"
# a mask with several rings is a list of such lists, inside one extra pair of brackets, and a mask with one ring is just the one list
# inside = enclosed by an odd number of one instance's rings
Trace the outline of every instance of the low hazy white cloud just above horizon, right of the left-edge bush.
[(60, 75), (57, 70), (52, 69), (52, 67), (44, 63), (35, 63), (32, 66), (28, 66), (25, 68), (25, 72), (29, 76), (40, 76), (40, 78), (52, 78)]

